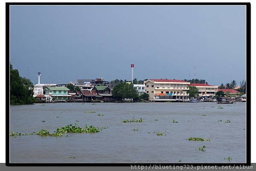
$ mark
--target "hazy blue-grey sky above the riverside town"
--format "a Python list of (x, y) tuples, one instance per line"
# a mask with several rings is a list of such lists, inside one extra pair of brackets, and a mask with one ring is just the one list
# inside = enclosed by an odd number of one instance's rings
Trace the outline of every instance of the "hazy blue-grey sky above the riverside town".
[(11, 6), (10, 61), (22, 77), (245, 79), (245, 6)]

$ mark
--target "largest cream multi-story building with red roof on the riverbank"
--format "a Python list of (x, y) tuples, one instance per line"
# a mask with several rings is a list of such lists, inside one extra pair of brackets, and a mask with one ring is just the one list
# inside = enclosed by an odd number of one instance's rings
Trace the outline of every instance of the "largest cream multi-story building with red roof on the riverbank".
[(175, 79), (148, 79), (144, 81), (149, 101), (183, 101), (189, 99), (189, 82)]

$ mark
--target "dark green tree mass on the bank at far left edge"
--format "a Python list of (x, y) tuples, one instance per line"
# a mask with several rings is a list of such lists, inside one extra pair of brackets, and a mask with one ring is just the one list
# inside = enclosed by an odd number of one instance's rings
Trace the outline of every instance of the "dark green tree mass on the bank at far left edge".
[(10, 104), (33, 104), (34, 85), (27, 78), (22, 78), (18, 70), (12, 69), (10, 64)]

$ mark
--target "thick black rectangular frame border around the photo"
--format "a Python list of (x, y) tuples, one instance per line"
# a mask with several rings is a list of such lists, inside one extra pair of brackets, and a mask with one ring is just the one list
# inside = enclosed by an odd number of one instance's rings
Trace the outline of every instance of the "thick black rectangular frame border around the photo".
[[(247, 102), (246, 102), (246, 163), (10, 163), (9, 161), (9, 116), (10, 116), (10, 94), (9, 94), (9, 76), (10, 76), (10, 53), (9, 53), (9, 19), (10, 19), (10, 6), (19, 6), (19, 5), (66, 5), (66, 6), (73, 6), (73, 5), (106, 5), (106, 6), (223, 6), (223, 5), (230, 5), (230, 6), (238, 6), (244, 5), (246, 6), (246, 81), (247, 81)], [(6, 166), (131, 166), (131, 165), (207, 165), (207, 166), (228, 166), (228, 165), (251, 165), (251, 4), (250, 3), (6, 3)]]

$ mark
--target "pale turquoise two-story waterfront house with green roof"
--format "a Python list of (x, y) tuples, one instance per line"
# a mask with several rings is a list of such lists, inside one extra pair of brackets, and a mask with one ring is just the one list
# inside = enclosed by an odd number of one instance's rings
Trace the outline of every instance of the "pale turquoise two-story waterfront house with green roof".
[(68, 101), (68, 97), (71, 97), (68, 91), (70, 90), (67, 87), (47, 87), (45, 95), (51, 96), (53, 101), (64, 102)]

